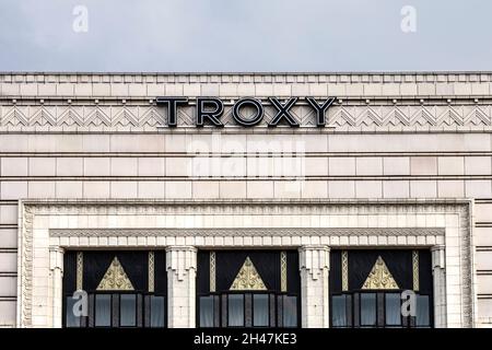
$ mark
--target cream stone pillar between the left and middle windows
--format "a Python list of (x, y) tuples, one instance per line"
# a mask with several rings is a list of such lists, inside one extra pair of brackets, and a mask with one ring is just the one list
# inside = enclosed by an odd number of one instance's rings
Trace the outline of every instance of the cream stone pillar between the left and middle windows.
[(171, 246), (166, 249), (167, 326), (195, 328), (197, 248)]

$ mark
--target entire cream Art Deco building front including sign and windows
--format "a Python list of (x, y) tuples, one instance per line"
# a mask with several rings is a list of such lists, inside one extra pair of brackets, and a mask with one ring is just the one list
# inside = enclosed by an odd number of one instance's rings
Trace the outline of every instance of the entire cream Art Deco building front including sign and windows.
[(2, 73), (0, 325), (490, 327), (491, 95), (489, 72)]

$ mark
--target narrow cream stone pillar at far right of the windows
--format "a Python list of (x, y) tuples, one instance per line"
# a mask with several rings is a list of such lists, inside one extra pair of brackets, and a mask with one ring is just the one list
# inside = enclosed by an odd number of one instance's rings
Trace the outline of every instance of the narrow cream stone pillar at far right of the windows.
[(432, 276), (434, 284), (434, 327), (445, 328), (446, 319), (446, 255), (444, 245), (436, 245), (432, 252)]

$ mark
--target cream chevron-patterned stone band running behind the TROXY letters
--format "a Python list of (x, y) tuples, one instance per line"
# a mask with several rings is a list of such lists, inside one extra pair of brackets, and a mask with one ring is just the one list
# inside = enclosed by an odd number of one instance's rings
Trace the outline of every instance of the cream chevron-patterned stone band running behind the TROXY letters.
[[(443, 105), (443, 106), (333, 106), (328, 112), (327, 127), (342, 130), (442, 130), (492, 129), (491, 105)], [(259, 127), (266, 127), (277, 110), (270, 106), (265, 108), (265, 117)], [(247, 115), (247, 110), (245, 110)], [(302, 127), (315, 128), (314, 113), (308, 106), (298, 105), (291, 114)], [(50, 128), (63, 127), (63, 130), (154, 130), (166, 126), (167, 112), (164, 107), (147, 106), (0, 106), (0, 130), (36, 130), (49, 131)], [(222, 116), (225, 127), (239, 128), (227, 106)], [(178, 109), (178, 126), (195, 126), (195, 107)]]

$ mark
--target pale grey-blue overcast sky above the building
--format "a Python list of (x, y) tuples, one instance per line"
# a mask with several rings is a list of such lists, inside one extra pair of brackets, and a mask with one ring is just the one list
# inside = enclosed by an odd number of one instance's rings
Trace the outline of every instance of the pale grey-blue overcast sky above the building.
[(0, 0), (0, 70), (492, 70), (492, 1)]

